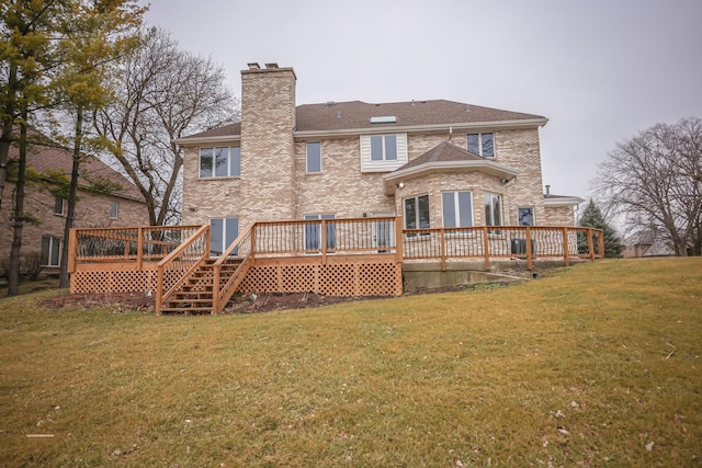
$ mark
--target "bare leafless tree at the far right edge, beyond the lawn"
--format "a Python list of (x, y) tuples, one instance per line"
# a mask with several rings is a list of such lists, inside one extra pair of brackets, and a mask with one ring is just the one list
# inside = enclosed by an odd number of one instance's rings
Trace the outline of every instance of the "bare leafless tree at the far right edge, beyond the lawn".
[(650, 230), (677, 255), (702, 254), (702, 121), (657, 124), (620, 142), (593, 181), (609, 212)]

